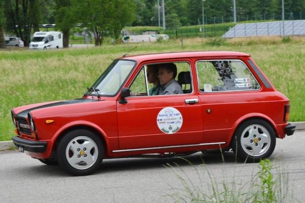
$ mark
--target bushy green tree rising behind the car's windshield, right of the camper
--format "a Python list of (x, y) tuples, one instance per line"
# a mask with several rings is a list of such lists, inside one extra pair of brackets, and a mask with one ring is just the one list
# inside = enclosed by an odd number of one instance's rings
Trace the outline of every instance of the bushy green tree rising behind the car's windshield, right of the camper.
[(94, 33), (95, 45), (103, 44), (106, 35), (118, 38), (121, 29), (135, 19), (130, 0), (74, 0), (78, 22)]

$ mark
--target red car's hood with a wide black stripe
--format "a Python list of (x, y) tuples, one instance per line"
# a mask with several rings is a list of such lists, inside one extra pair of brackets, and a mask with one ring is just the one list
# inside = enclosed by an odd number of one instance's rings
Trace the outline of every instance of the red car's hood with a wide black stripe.
[(57, 101), (53, 103), (41, 103), (36, 105), (31, 105), (28, 108), (22, 109), (20, 112), (18, 112), (16, 115), (18, 117), (27, 117), (27, 114), (30, 111), (36, 110), (36, 109), (43, 109), (48, 107), (55, 107), (55, 106), (62, 106), (62, 105), (72, 105), (72, 104), (79, 104), (79, 103), (89, 103), (89, 102), (96, 102), (99, 101), (98, 99), (85, 99), (85, 98), (77, 98), (72, 100), (64, 100), (64, 101)]

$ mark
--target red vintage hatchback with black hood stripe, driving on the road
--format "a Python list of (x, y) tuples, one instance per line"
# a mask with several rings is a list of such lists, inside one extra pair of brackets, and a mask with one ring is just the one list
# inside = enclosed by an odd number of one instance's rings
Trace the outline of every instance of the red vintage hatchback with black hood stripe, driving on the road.
[(276, 138), (293, 134), (289, 107), (246, 53), (124, 56), (82, 98), (13, 109), (13, 142), (72, 175), (94, 172), (105, 158), (220, 148), (259, 161), (272, 154)]

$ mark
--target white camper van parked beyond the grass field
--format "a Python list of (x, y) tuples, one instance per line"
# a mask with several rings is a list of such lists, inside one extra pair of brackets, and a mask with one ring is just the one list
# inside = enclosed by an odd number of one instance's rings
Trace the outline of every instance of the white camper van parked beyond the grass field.
[(63, 33), (59, 31), (35, 32), (29, 43), (30, 49), (59, 49), (63, 48)]

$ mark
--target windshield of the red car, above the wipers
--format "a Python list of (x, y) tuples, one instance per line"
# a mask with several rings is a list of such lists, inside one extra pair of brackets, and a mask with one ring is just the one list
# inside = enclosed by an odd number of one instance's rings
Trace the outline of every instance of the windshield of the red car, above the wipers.
[[(86, 95), (114, 96), (133, 69), (135, 61), (114, 60)], [(94, 89), (96, 91), (94, 91)]]

